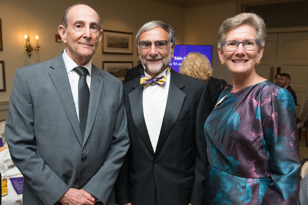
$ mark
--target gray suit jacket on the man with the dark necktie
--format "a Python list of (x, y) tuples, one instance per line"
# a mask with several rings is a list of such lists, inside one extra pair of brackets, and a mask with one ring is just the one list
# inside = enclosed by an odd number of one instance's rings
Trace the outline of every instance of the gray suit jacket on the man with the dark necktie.
[(6, 139), (25, 177), (23, 203), (55, 204), (84, 189), (114, 204), (113, 185), (129, 147), (120, 80), (92, 65), (84, 139), (62, 53), (16, 70)]

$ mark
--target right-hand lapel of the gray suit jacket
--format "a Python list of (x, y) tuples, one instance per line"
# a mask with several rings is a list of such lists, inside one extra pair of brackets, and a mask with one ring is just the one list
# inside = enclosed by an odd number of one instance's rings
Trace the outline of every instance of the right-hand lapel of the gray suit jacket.
[(95, 67), (92, 64), (89, 110), (88, 110), (87, 126), (83, 140), (83, 145), (85, 145), (85, 142), (89, 137), (100, 104), (100, 99), (104, 84), (103, 78), (101, 77), (102, 73), (100, 71), (101, 69)]

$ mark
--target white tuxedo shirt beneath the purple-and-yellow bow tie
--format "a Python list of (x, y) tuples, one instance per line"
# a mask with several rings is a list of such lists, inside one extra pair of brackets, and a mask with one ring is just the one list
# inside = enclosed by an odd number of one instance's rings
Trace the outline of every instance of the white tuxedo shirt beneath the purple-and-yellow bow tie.
[[(160, 77), (166, 74), (166, 70), (161, 72)], [(145, 76), (150, 77), (146, 72)], [(162, 122), (167, 105), (167, 97), (170, 85), (170, 72), (166, 75), (166, 85), (160, 86), (158, 84), (150, 83), (143, 88), (143, 114), (147, 131), (150, 136), (152, 148), (156, 151), (156, 146), (159, 134), (162, 128)]]

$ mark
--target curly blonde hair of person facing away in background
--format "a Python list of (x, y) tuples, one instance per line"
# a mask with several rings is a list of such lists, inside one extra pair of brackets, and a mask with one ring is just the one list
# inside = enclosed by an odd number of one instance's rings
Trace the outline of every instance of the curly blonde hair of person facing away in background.
[(206, 56), (198, 52), (188, 53), (182, 61), (180, 73), (207, 81), (212, 76), (213, 69), (210, 67)]

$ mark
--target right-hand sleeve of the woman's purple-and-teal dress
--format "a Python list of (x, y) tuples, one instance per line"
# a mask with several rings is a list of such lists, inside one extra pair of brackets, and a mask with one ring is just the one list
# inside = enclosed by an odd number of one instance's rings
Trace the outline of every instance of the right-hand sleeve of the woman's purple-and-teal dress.
[(260, 95), (260, 110), (272, 179), (262, 204), (296, 204), (300, 159), (294, 100), (287, 90), (268, 87)]

